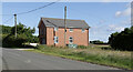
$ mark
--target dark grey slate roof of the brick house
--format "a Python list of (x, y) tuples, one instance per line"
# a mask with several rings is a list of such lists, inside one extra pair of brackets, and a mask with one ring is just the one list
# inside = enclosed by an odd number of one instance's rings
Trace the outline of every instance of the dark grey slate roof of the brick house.
[[(64, 19), (55, 19), (55, 18), (41, 18), (45, 27), (58, 27), (64, 28)], [(84, 20), (70, 20), (66, 19), (66, 28), (81, 28), (89, 29), (90, 27)]]

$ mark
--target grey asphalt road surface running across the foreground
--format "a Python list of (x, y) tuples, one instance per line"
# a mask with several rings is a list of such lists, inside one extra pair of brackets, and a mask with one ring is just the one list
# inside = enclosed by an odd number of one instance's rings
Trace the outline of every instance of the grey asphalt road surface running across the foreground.
[(117, 70), (41, 53), (3, 49), (2, 70)]

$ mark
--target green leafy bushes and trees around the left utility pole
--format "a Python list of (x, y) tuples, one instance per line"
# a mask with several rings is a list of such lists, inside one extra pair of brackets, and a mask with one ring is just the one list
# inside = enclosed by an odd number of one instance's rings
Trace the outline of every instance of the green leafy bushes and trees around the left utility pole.
[(19, 23), (17, 25), (17, 38), (14, 37), (14, 27), (2, 27), (2, 47), (23, 47), (25, 42), (38, 43), (38, 37), (33, 35), (35, 29), (27, 28), (24, 24)]

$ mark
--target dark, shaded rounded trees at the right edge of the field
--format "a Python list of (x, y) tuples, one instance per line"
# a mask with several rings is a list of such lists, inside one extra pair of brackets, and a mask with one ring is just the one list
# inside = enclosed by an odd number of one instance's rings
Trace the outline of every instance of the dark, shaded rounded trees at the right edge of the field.
[(133, 27), (126, 28), (122, 32), (112, 33), (109, 43), (115, 50), (133, 51)]

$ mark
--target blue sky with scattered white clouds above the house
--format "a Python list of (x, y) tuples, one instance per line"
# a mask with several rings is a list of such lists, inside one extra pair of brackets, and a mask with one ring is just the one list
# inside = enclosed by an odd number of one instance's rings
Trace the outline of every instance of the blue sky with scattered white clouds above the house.
[[(25, 12), (49, 2), (3, 2), (2, 14)], [(18, 16), (18, 23), (35, 28), (35, 35), (39, 34), (38, 23), (41, 17), (64, 18), (63, 8), (68, 7), (68, 19), (81, 19), (91, 27), (90, 41), (108, 41), (113, 32), (120, 32), (124, 28), (131, 27), (131, 8), (129, 2), (58, 2), (44, 9), (37, 10), (27, 14)], [(13, 25), (13, 19), (6, 22), (12, 16), (3, 16), (4, 25)]]

